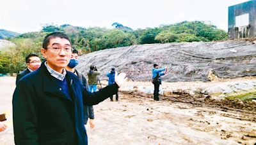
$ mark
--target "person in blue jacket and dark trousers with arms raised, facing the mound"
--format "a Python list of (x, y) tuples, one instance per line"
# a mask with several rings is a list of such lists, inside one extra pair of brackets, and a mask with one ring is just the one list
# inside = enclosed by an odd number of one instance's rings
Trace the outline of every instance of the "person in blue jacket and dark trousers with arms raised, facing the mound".
[(152, 69), (152, 83), (154, 84), (154, 100), (159, 100), (159, 86), (162, 84), (161, 76), (166, 74), (167, 67), (159, 69), (157, 64), (154, 64)]

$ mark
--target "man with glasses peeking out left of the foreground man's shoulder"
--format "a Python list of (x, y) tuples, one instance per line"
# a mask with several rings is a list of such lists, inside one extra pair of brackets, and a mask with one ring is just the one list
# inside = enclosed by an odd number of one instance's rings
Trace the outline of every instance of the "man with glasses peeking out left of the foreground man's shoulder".
[(28, 74), (29, 72), (33, 72), (36, 69), (38, 69), (41, 66), (41, 60), (38, 57), (38, 55), (34, 54), (34, 53), (30, 53), (29, 55), (26, 56), (26, 65), (27, 65), (27, 69), (25, 69), (24, 71), (20, 72), (17, 75), (16, 78), (16, 85), (18, 83), (18, 81), (25, 76), (26, 74)]

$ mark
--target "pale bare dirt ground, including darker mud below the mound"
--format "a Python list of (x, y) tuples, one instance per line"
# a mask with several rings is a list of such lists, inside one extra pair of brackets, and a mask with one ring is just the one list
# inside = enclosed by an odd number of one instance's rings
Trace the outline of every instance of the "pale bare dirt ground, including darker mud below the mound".
[[(193, 84), (193, 83), (191, 83)], [(175, 85), (173, 83), (172, 85)], [(8, 130), (0, 144), (13, 143), (12, 93), (15, 78), (0, 78), (0, 112)], [(115, 98), (115, 97), (114, 97)], [(162, 95), (120, 92), (94, 106), (95, 128), (86, 126), (89, 144), (255, 144), (256, 104), (240, 100), (212, 100), (185, 92)]]

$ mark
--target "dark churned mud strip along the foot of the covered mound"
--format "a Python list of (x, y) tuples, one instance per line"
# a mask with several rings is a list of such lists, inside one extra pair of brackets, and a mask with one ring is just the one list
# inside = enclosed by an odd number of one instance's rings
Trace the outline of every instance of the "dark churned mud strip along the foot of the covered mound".
[[(143, 99), (143, 97), (152, 98), (153, 96), (152, 94), (142, 93), (136, 90), (122, 91), (122, 93), (124, 95), (131, 95), (132, 97), (136, 97), (138, 99)], [(175, 92), (175, 94), (172, 95), (160, 95), (159, 97), (163, 101), (182, 102), (193, 107), (209, 107), (216, 111), (223, 111), (224, 113), (221, 113), (222, 116), (234, 118), (237, 120), (256, 122), (256, 102), (243, 101), (239, 99), (214, 100), (211, 99), (211, 96), (209, 95), (190, 95), (189, 93), (183, 91)], [(232, 113), (239, 115), (232, 115)]]

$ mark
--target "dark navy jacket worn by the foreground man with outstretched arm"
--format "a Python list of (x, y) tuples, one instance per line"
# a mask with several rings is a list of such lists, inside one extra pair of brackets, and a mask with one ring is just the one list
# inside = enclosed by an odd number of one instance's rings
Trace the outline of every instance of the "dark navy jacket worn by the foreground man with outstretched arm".
[(15, 144), (88, 144), (83, 106), (99, 104), (118, 90), (114, 84), (88, 92), (67, 71), (68, 99), (53, 79), (43, 62), (17, 83), (12, 100)]

